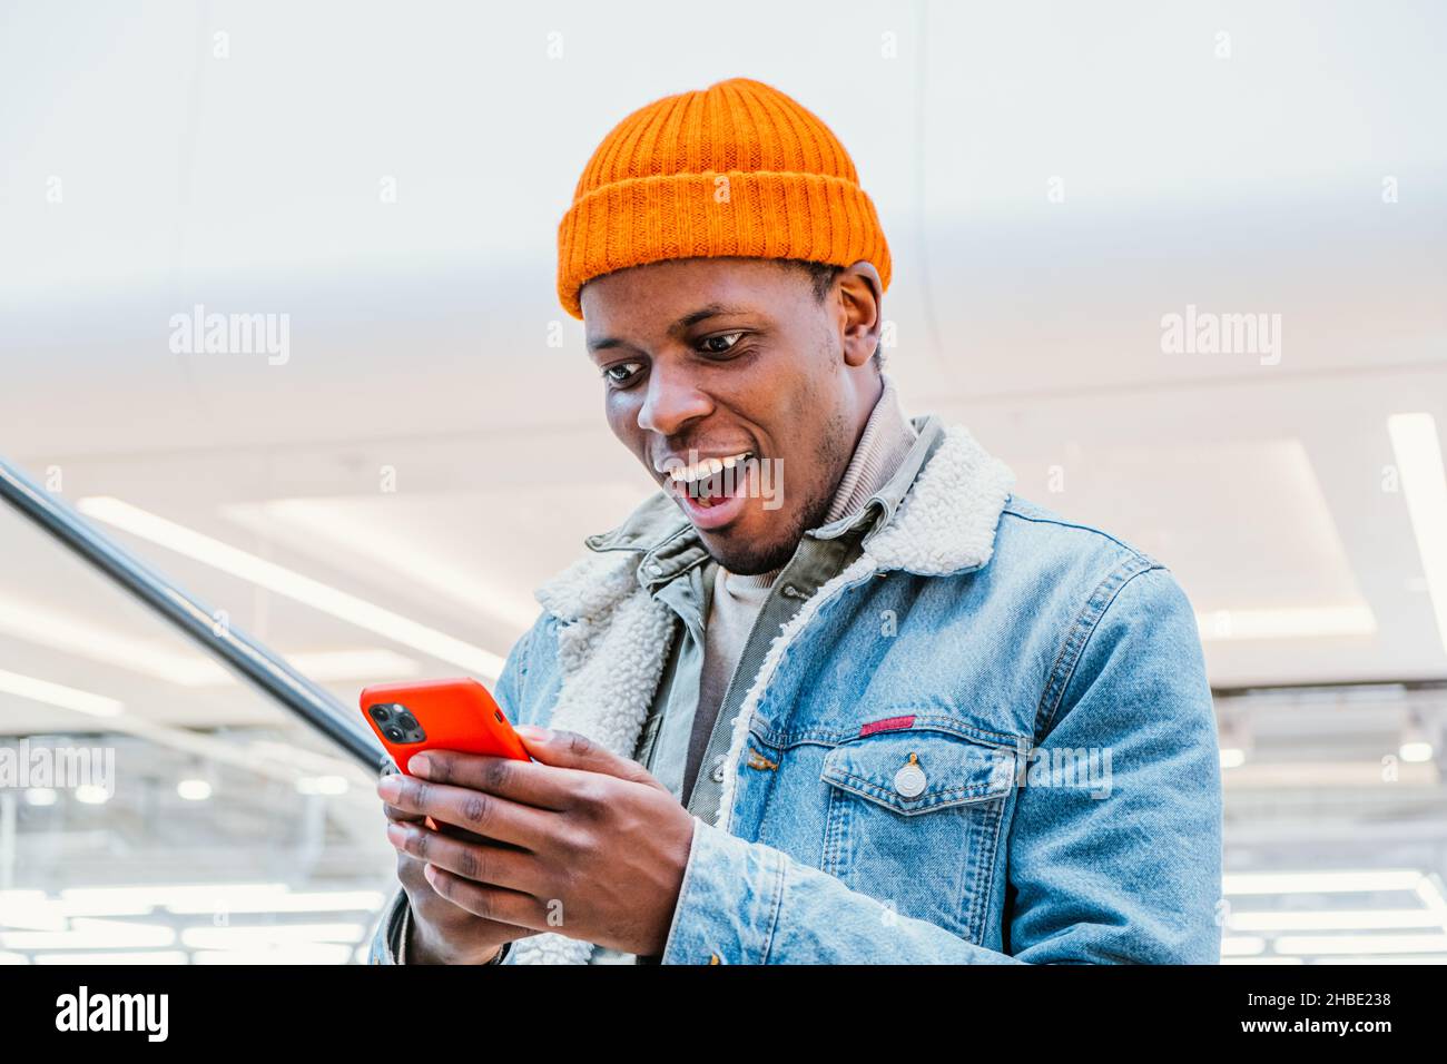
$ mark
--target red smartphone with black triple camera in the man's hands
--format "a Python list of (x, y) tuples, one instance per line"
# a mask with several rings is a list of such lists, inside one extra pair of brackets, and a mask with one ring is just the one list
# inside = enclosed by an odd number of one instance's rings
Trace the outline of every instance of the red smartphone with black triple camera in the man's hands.
[(359, 699), (362, 717), (396, 767), (423, 750), (532, 760), (488, 689), (470, 677), (378, 683)]

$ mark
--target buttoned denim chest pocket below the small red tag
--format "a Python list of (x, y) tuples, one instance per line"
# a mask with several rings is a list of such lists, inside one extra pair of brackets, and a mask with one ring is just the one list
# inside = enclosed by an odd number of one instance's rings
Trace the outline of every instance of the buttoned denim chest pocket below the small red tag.
[(943, 731), (841, 743), (820, 773), (823, 871), (978, 941), (1014, 772), (1013, 750)]

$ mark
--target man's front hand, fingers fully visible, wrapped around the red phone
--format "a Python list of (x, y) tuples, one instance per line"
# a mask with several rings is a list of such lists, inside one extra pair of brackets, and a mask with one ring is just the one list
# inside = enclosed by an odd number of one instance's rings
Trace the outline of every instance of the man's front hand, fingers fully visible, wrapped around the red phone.
[(410, 822), (399, 850), (430, 866), (431, 890), (485, 921), (661, 954), (693, 816), (637, 761), (583, 735), (517, 731), (537, 761), (430, 750), (408, 763), (421, 779), (378, 785), (404, 814), (475, 832)]

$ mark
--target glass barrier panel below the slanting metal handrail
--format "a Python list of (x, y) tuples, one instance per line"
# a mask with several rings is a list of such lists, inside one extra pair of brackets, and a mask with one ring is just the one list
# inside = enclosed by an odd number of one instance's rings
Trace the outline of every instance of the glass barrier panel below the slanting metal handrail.
[[(245, 580), (149, 556), (266, 627)], [(0, 963), (365, 960), (375, 773), (7, 505), (0, 557)], [(376, 679), (334, 631), (276, 634), (344, 705)]]

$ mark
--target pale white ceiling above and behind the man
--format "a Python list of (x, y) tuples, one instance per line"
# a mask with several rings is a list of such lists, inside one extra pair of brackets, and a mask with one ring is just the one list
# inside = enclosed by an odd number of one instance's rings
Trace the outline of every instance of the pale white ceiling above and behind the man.
[[(1202, 614), (1373, 620), (1210, 641), (1217, 685), (1447, 677), (1404, 497), (1382, 488), (1391, 414), (1447, 433), (1447, 16), (1393, 12), (12, 4), (0, 453), (59, 470), (71, 501), (123, 499), (506, 653), (531, 588), (648, 489), (557, 305), (557, 219), (614, 122), (747, 74), (819, 113), (878, 204), (912, 413), (969, 424), (1022, 494), (1155, 553)], [(289, 314), (289, 360), (171, 353), (169, 317), (197, 303)], [(1279, 363), (1162, 353), (1188, 304), (1279, 314)], [(123, 540), (284, 653), (456, 670)], [(0, 596), (129, 609), (48, 554), (0, 514)], [(0, 669), (19, 666), (136, 680), (4, 633)], [(352, 701), (370, 679), (331, 686)], [(239, 691), (133, 698), (177, 722), (265, 715)], [(6, 727), (54, 719), (22, 702)]]

